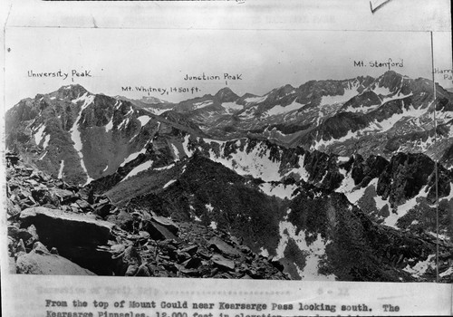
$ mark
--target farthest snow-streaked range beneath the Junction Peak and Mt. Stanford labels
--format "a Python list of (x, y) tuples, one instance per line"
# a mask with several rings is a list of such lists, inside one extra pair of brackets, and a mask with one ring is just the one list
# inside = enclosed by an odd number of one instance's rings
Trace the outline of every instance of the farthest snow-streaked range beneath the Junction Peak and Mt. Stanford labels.
[(453, 95), (439, 85), (436, 90), (433, 102), (432, 82), (389, 71), (377, 78), (284, 85), (263, 96), (239, 97), (224, 88), (182, 101), (172, 111), (185, 114), (213, 139), (265, 138), (285, 147), (386, 159), (397, 150), (423, 152), (450, 168)]

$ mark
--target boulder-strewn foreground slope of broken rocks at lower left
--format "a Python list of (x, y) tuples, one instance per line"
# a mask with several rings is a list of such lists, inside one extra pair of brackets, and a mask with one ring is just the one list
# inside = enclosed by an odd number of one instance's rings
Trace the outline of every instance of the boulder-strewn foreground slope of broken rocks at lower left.
[(115, 207), (12, 153), (6, 158), (14, 273), (288, 278), (282, 264), (255, 255), (225, 231)]

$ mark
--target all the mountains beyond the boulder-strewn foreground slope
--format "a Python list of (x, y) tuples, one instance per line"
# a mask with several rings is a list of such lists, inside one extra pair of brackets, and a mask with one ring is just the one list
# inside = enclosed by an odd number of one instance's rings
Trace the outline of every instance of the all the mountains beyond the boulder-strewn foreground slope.
[(240, 236), (293, 278), (428, 281), (435, 160), (444, 244), (453, 220), (453, 94), (436, 90), (396, 72), (179, 103), (70, 85), (8, 110), (6, 146), (119, 208)]

